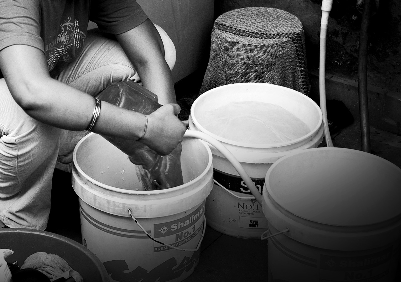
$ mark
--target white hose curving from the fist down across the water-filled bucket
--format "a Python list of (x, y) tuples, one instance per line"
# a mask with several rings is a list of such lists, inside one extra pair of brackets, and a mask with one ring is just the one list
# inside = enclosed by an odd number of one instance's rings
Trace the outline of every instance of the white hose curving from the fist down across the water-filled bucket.
[(259, 190), (256, 188), (255, 183), (253, 183), (252, 179), (249, 177), (245, 169), (242, 167), (242, 165), (239, 163), (239, 161), (231, 154), (231, 152), (219, 141), (217, 141), (215, 138), (203, 133), (199, 132), (196, 130), (186, 130), (185, 137), (194, 137), (201, 139), (205, 142), (208, 142), (211, 144), (213, 147), (215, 147), (217, 150), (225, 156), (225, 158), (233, 165), (235, 170), (237, 170), (239, 176), (242, 178), (242, 180), (245, 182), (249, 190), (251, 191), (253, 197), (255, 197), (256, 201), (259, 203), (259, 205), (262, 205), (262, 195), (259, 193)]

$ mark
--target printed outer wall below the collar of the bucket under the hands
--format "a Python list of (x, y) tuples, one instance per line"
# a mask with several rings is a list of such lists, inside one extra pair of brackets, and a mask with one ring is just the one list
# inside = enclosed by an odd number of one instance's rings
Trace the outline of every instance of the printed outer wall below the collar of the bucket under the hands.
[[(198, 264), (200, 250), (174, 250), (151, 240), (131, 218), (113, 221), (112, 215), (80, 202), (83, 243), (103, 262), (111, 281), (181, 281)], [(138, 222), (154, 239), (192, 250), (200, 244), (204, 212), (205, 201), (192, 213), (177, 214), (170, 221), (159, 218)]]

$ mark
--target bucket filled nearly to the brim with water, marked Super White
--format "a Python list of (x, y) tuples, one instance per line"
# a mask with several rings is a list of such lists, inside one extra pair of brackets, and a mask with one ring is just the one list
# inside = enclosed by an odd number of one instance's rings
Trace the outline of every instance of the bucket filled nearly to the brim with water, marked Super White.
[[(252, 121), (247, 123), (249, 117), (258, 120), (258, 127)], [(263, 122), (273, 127), (267, 128)], [(324, 131), (322, 113), (312, 99), (269, 83), (235, 83), (203, 93), (192, 105), (188, 125), (221, 142), (259, 193), (273, 162), (291, 152), (317, 147)], [(267, 136), (261, 136), (262, 131)], [(214, 146), (211, 150), (214, 185), (206, 200), (208, 225), (227, 235), (260, 238), (267, 230), (267, 220), (259, 202), (230, 161)]]

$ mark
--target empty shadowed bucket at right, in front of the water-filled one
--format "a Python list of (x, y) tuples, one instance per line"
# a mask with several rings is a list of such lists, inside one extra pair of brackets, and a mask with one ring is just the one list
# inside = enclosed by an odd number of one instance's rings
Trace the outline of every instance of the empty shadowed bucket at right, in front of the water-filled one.
[(262, 200), (269, 281), (394, 281), (400, 183), (399, 167), (358, 150), (313, 148), (275, 162)]

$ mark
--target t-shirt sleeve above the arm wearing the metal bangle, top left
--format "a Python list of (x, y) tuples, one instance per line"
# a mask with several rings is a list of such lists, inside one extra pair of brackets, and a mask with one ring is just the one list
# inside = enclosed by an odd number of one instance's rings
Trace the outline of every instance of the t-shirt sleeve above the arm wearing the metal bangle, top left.
[(0, 1), (0, 51), (22, 44), (42, 51), (39, 0)]

